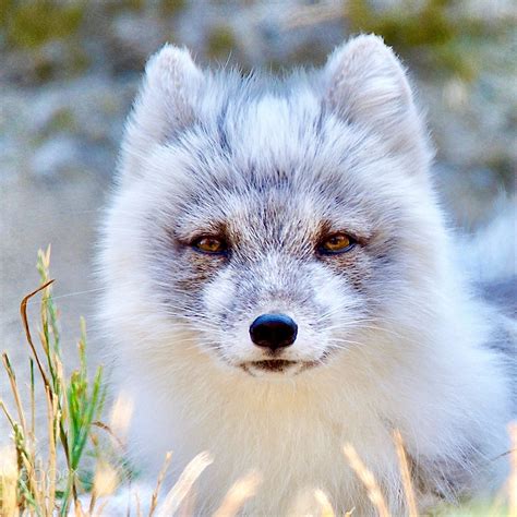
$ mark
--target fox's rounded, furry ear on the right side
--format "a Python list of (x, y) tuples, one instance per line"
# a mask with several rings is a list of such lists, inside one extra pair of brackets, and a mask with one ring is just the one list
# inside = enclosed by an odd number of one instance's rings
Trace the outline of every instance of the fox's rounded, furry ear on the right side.
[(342, 119), (376, 132), (392, 151), (428, 157), (406, 73), (382, 38), (362, 35), (337, 48), (324, 74), (326, 101)]

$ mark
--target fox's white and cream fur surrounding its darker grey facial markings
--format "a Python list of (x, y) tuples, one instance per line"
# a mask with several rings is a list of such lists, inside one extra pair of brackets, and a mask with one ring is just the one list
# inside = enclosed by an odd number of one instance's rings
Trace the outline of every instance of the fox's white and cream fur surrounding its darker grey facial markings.
[[(509, 380), (501, 357), (485, 346), (498, 316), (470, 298), (449, 256), (449, 237), (430, 187), (424, 129), (404, 70), (378, 38), (363, 36), (337, 50), (321, 77), (309, 83), (297, 85), (289, 98), (274, 91), (250, 98), (235, 113), (230, 98), (232, 165), (245, 170), (254, 163), (262, 170), (274, 163), (292, 171), (300, 185), (306, 184), (306, 172), (298, 171), (309, 160), (315, 176), (346, 168), (342, 181), (363, 194), (356, 196), (357, 207), (344, 208), (340, 217), (372, 236), (372, 221), (382, 219), (388, 228), (400, 213), (410, 214), (398, 235), (406, 266), (400, 272), (404, 282), (396, 284), (397, 301), (386, 303), (382, 325), (360, 326), (354, 314), (362, 314), (361, 298), (336, 289), (335, 275), (326, 267), (311, 265), (311, 278), (300, 281), (311, 282), (314, 303), (325, 308), (334, 326), (354, 330), (346, 335), (350, 345), (327, 364), (293, 376), (247, 375), (200, 346), (207, 339), (203, 330), (171, 320), (158, 299), (163, 286), (151, 280), (149, 220), (167, 220), (170, 205), (181, 202), (196, 180), (192, 170), (203, 173), (205, 166), (188, 146), (177, 145), (173, 135), (196, 118), (212, 128), (212, 113), (225, 91), (187, 51), (166, 47), (147, 67), (128, 128), (121, 188), (109, 211), (100, 257), (107, 286), (101, 317), (116, 359), (115, 381), (135, 401), (133, 454), (153, 476), (165, 452), (173, 450), (176, 477), (196, 454), (209, 450), (215, 462), (203, 474), (196, 500), (203, 515), (251, 469), (262, 472), (264, 482), (247, 505), (249, 514), (284, 515), (300, 491), (315, 488), (327, 492), (340, 513), (356, 507), (357, 515), (370, 514), (366, 492), (342, 455), (346, 442), (353, 444), (399, 515), (404, 501), (394, 429), (402, 433), (413, 460), (429, 468), (433, 490), (441, 488), (441, 469), (455, 476), (448, 470), (457, 468), (477, 468), (476, 478), (458, 489), (462, 494), (495, 489), (507, 466), (505, 458), (494, 458), (507, 450), (505, 426), (512, 418)], [(322, 101), (335, 111), (325, 122), (332, 139), (321, 144), (323, 151), (299, 130), (305, 121), (312, 123)], [(201, 133), (189, 133), (189, 139), (192, 147), (211, 146)], [(204, 159), (214, 175), (228, 167), (215, 153)], [(320, 199), (304, 189), (290, 207), (300, 220), (311, 217), (318, 204), (314, 199)], [(368, 208), (361, 203), (372, 193)], [(226, 205), (214, 211), (236, 218), (249, 214), (250, 202), (239, 193), (228, 193), (225, 200)], [(323, 206), (323, 197), (321, 202)], [(182, 216), (181, 224), (195, 227), (212, 215), (194, 211)], [(243, 239), (253, 238), (253, 228), (241, 230)], [(292, 358), (316, 358), (332, 339), (330, 330), (314, 333), (306, 308), (275, 298), (275, 286), (289, 289), (297, 280), (296, 258), (292, 267), (289, 261), (268, 252), (262, 262), (250, 263), (261, 272), (254, 274), (263, 285), (261, 301), (242, 309), (245, 317), (231, 333), (213, 329), (230, 363), (261, 358), (248, 325), (272, 306), (299, 322)], [(228, 270), (208, 282), (200, 293), (207, 313), (239, 296), (243, 286), (238, 280)], [(397, 278), (386, 278), (380, 300), (389, 298), (393, 282)], [(358, 341), (361, 346), (354, 346)], [(476, 447), (485, 459), (481, 470), (469, 464)], [(440, 467), (433, 471), (436, 462)]]

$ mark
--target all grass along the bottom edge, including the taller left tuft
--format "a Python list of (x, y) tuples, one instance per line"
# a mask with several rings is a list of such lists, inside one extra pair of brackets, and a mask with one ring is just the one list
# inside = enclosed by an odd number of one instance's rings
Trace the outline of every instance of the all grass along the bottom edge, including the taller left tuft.
[[(132, 416), (132, 405), (123, 395), (115, 402), (108, 423), (100, 421), (105, 388), (103, 369), (98, 368), (89, 378), (86, 369), (86, 330), (81, 321), (81, 338), (77, 344), (79, 369), (67, 374), (62, 359), (58, 327), (58, 310), (51, 296), (49, 279), (50, 249), (38, 253), (37, 267), (41, 286), (27, 294), (21, 304), (21, 316), (26, 340), (31, 349), (29, 389), (27, 406), (23, 402), (21, 383), (3, 352), (2, 363), (13, 396), (14, 409), (9, 409), (0, 399), (0, 409), (12, 431), (11, 445), (0, 450), (0, 516), (103, 515), (110, 497), (128, 478), (123, 455), (125, 432)], [(33, 339), (28, 325), (27, 302), (41, 294), (39, 346)], [(39, 378), (37, 378), (39, 377)], [(36, 399), (38, 393), (45, 397), (47, 429), (36, 429)], [(101, 433), (104, 436), (100, 436)], [(483, 507), (462, 506), (445, 508), (441, 515), (478, 515), (517, 517), (517, 423), (510, 424), (512, 473), (493, 504)], [(46, 452), (41, 444), (46, 443)], [(400, 433), (394, 433), (394, 444), (400, 466), (404, 495), (409, 517), (418, 517), (417, 495), (413, 490), (410, 468)], [(376, 508), (380, 517), (389, 517), (388, 505), (375, 477), (364, 465), (351, 444), (345, 444), (344, 454)], [(87, 457), (93, 456), (93, 462)], [(194, 485), (214, 459), (201, 453), (187, 466), (177, 483), (161, 497), (160, 491), (172, 460), (168, 453), (157, 477), (156, 488), (148, 502), (142, 502), (133, 493), (133, 510), (146, 515), (192, 515), (195, 508)], [(260, 490), (261, 474), (249, 472), (230, 486), (214, 517), (237, 515), (245, 502)], [(83, 494), (81, 496), (81, 494)], [(334, 517), (332, 503), (322, 490), (314, 490), (306, 501), (316, 503), (316, 510), (303, 515)], [(312, 504), (311, 503), (311, 504)], [(312, 504), (312, 508), (314, 505)], [(298, 508), (298, 507), (297, 507)], [(353, 508), (345, 517), (356, 515)]]

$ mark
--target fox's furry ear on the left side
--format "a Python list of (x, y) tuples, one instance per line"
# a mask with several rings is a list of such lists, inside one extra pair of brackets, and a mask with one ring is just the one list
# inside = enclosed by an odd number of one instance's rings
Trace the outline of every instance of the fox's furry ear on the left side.
[[(189, 50), (166, 45), (145, 67), (122, 144), (123, 173), (136, 171), (148, 149), (189, 127), (203, 72)], [(128, 170), (130, 169), (130, 170)]]

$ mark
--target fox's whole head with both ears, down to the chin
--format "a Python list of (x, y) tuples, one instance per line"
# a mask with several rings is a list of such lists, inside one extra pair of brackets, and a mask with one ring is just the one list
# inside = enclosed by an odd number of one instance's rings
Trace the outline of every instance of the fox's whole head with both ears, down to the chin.
[(445, 239), (430, 159), (404, 68), (375, 36), (282, 79), (201, 70), (166, 46), (105, 228), (101, 312), (120, 357), (273, 382), (425, 332)]

